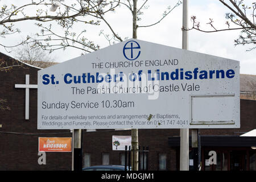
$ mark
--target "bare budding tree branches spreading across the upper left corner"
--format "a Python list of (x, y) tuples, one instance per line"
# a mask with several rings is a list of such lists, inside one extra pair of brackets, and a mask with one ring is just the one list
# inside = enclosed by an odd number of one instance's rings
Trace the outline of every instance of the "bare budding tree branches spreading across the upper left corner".
[[(97, 26), (100, 24), (104, 14), (114, 11), (115, 7), (119, 5), (119, 0), (74, 0), (65, 3), (63, 0), (56, 0), (60, 4), (60, 7), (56, 11), (56, 15), (49, 15), (48, 9), (52, 6), (52, 3), (47, 3), (47, 0), (38, 0), (31, 1), (22, 6), (15, 5), (3, 5), (0, 10), (0, 28), (2, 26), (2, 31), (0, 31), (0, 36), (5, 38), (5, 36), (15, 34), (20, 32), (19, 28), (14, 28), (14, 23), (22, 22), (27, 20), (35, 20), (42, 23), (36, 23), (36, 25), (41, 29), (41, 32), (38, 32), (37, 38), (31, 39), (30, 36), (26, 40), (23, 40), (21, 43), (7, 46), (5, 44), (0, 44), (0, 46), (7, 48), (13, 48), (19, 46), (20, 44), (34, 42), (37, 46), (40, 46), (44, 49), (54, 51), (56, 49), (63, 49), (67, 47), (75, 47), (84, 50), (85, 52), (91, 52), (98, 49), (98, 46), (93, 42), (86, 39), (84, 36), (85, 31), (77, 33), (71, 31), (72, 26), (75, 23), (85, 23), (86, 25)], [(30, 16), (27, 15), (27, 9), (33, 7), (36, 10), (35, 14)], [(47, 22), (55, 22), (61, 26), (64, 30), (64, 34), (60, 32), (53, 31), (51, 24), (47, 25)], [(48, 32), (48, 34), (44, 34)], [(79, 36), (77, 36), (79, 35)], [(57, 39), (59, 38), (59, 46), (57, 46)], [(54, 40), (54, 43), (51, 42)], [(77, 44), (77, 46), (76, 46)]]

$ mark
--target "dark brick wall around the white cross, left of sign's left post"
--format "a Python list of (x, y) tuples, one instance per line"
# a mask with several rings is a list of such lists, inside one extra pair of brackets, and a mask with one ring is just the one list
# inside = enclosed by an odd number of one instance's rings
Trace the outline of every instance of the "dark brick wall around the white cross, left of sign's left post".
[[(16, 65), (1, 53), (0, 59)], [(72, 137), (69, 130), (37, 130), (37, 89), (30, 89), (30, 119), (24, 119), (25, 89), (14, 85), (25, 84), (26, 74), (30, 75), (30, 84), (37, 84), (38, 70), (22, 65), (0, 72), (0, 100), (6, 101), (1, 103), (5, 109), (0, 109), (0, 170), (71, 170), (71, 152), (47, 152), (46, 165), (38, 164), (38, 137)]]

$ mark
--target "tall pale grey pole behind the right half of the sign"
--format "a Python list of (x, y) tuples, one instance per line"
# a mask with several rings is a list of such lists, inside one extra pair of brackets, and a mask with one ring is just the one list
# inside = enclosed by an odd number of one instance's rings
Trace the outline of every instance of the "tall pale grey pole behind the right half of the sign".
[[(183, 28), (188, 28), (188, 1), (183, 0)], [(188, 31), (182, 31), (182, 48), (188, 49)], [(189, 129), (180, 129), (180, 171), (189, 170)]]

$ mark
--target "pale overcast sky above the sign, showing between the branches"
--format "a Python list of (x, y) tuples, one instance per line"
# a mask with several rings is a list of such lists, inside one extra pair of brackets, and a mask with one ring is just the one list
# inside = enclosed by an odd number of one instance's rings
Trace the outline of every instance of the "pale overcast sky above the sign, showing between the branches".
[[(24, 1), (15, 0), (2, 0), (3, 3), (24, 3)], [(67, 1), (67, 0), (65, 0)], [(30, 2), (30, 1), (28, 1)], [(144, 15), (141, 16), (142, 20), (138, 22), (138, 25), (146, 25), (155, 23), (162, 16), (164, 10), (168, 5), (174, 6), (177, 0), (151, 0), (148, 3), (148, 9), (144, 10)], [(255, 0), (246, 0), (247, 5), (251, 5)], [(188, 1), (188, 15), (196, 15), (197, 20), (200, 21), (201, 28), (209, 30), (209, 18), (213, 18), (214, 26), (217, 28), (226, 28), (225, 26), (225, 13), (229, 13), (229, 9), (223, 6), (217, 0), (190, 0)], [(118, 32), (123, 39), (125, 37), (132, 38), (132, 16), (129, 10), (125, 8), (119, 8), (115, 13), (111, 13), (105, 16), (112, 24), (114, 30)], [(7, 36), (5, 39), (1, 38), (1, 43), (16, 43), (17, 40), (21, 40), (28, 34), (33, 34), (38, 31), (34, 25), (35, 22), (27, 21), (17, 23), (22, 33), (19, 35)], [(189, 19), (189, 27), (192, 22)], [(166, 46), (181, 48), (181, 27), (182, 27), (182, 5), (177, 7), (170, 13), (161, 23), (156, 24), (153, 27), (138, 28), (138, 39), (145, 40), (147, 42), (163, 44)], [(105, 30), (110, 34), (104, 23), (101, 23), (100, 27), (76, 27), (79, 31), (86, 29), (86, 35), (88, 39), (93, 40), (99, 44), (101, 48), (109, 46), (104, 36), (99, 36), (100, 30)], [(256, 49), (247, 52), (251, 46), (234, 46), (234, 39), (238, 38), (240, 31), (222, 31), (215, 33), (203, 33), (196, 30), (188, 32), (188, 49), (190, 51), (196, 51), (200, 53), (207, 53), (209, 55), (225, 57), (228, 59), (234, 59), (240, 61), (240, 73), (256, 75)], [(12, 56), (13, 53), (7, 53), (2, 47), (0, 51)], [(78, 49), (66, 49), (65, 51), (53, 52), (53, 57), (57, 62), (73, 59), (81, 55), (81, 51)]]

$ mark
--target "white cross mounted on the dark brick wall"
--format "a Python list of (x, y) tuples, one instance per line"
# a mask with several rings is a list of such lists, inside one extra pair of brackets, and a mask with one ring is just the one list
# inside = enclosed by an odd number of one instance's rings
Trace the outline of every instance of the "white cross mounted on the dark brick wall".
[(37, 89), (38, 85), (30, 85), (30, 75), (26, 75), (26, 84), (15, 84), (15, 88), (26, 88), (25, 119), (29, 119), (30, 89)]

